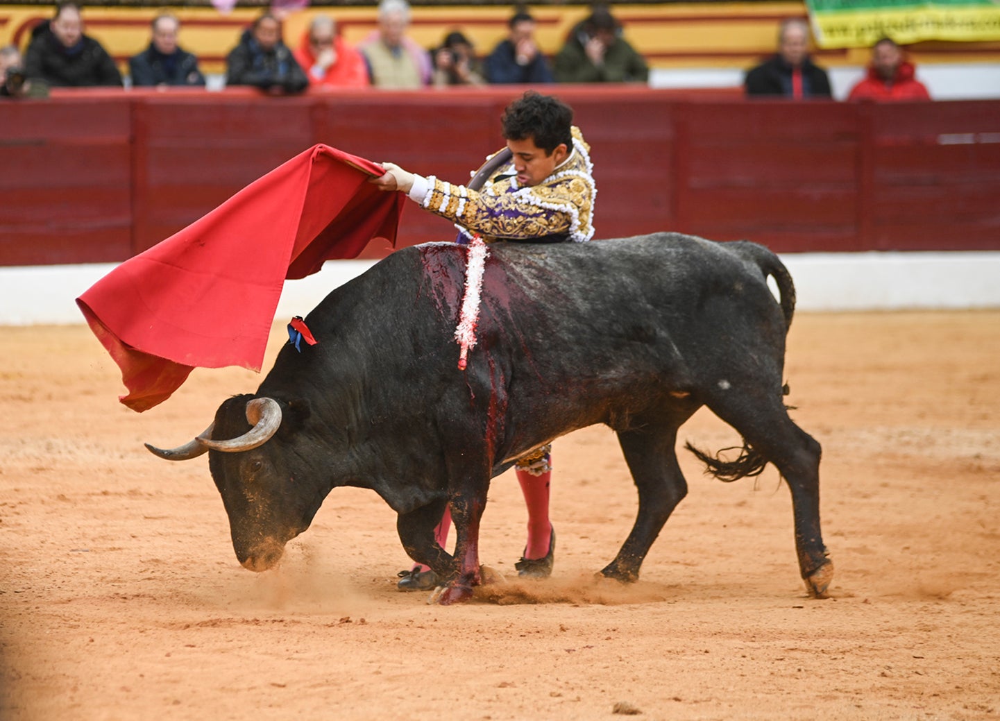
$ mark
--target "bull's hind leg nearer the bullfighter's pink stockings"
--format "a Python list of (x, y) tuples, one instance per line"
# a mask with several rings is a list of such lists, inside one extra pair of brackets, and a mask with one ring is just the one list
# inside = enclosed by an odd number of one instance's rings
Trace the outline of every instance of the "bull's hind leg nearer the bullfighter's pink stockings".
[(687, 481), (674, 450), (679, 425), (637, 420), (635, 426), (640, 430), (618, 433), (618, 442), (639, 491), (639, 511), (615, 560), (601, 571), (609, 578), (631, 582), (639, 577), (639, 567), (650, 546), (687, 495)]

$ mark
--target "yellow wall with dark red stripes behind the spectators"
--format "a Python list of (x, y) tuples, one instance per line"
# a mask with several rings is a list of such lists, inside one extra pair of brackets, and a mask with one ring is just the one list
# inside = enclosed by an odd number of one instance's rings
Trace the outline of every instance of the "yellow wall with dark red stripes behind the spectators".
[[(89, 7), (84, 11), (86, 31), (100, 40), (124, 69), (128, 57), (148, 44), (149, 22), (161, 10)], [(221, 73), (226, 54), (260, 10), (241, 8), (223, 15), (214, 8), (178, 7), (172, 12), (184, 24), (181, 44), (202, 59), (204, 71)], [(285, 41), (289, 45), (297, 43), (317, 12), (333, 15), (344, 36), (353, 43), (375, 28), (375, 8), (371, 6), (306, 9), (285, 22)], [(416, 7), (411, 35), (429, 48), (440, 43), (445, 33), (458, 28), (485, 54), (504, 37), (510, 12), (506, 6)], [(545, 6), (532, 8), (531, 12), (538, 20), (539, 42), (546, 53), (552, 54), (588, 10), (585, 6)], [(806, 16), (801, 2), (615, 5), (614, 12), (625, 25), (627, 39), (652, 67), (663, 69), (749, 67), (762, 55), (773, 52), (781, 19)], [(0, 6), (0, 45), (13, 42), (23, 50), (31, 28), (50, 15), (48, 6)], [(1000, 42), (925, 42), (912, 46), (910, 51), (919, 64), (1000, 62)], [(827, 67), (858, 66), (868, 61), (867, 48), (815, 54)]]

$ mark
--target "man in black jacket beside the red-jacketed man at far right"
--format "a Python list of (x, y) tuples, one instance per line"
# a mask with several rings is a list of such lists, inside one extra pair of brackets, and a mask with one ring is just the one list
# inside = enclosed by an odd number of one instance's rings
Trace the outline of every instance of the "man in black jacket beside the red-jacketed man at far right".
[(747, 95), (830, 97), (830, 78), (809, 58), (809, 26), (797, 18), (782, 21), (778, 53), (747, 72), (743, 84)]

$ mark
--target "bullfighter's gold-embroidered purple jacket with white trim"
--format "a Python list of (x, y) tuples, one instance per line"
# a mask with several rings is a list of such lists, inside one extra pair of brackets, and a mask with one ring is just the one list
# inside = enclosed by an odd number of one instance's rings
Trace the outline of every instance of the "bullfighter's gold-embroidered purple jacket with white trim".
[(494, 171), (481, 190), (471, 190), (433, 175), (417, 176), (410, 197), (432, 213), (454, 222), (460, 242), (479, 233), (487, 243), (536, 239), (582, 243), (594, 236), (597, 188), (593, 170), (590, 146), (580, 129), (573, 126), (573, 151), (538, 185), (520, 186), (510, 161)]

